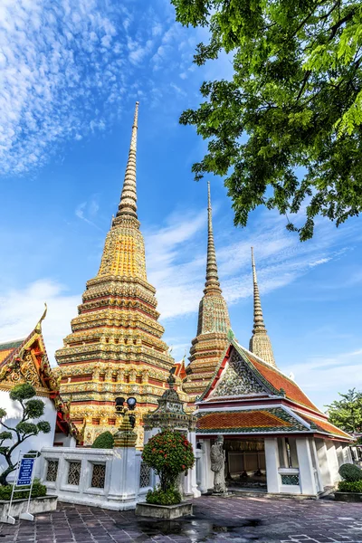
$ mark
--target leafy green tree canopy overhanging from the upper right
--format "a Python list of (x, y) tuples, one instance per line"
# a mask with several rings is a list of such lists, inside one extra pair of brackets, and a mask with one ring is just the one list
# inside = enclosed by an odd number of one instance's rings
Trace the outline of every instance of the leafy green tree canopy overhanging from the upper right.
[[(195, 178), (225, 176), (234, 222), (277, 209), (300, 240), (317, 215), (337, 226), (362, 208), (362, 5), (354, 0), (171, 0), (176, 19), (204, 26), (195, 63), (226, 52), (230, 81), (208, 81), (186, 110), (208, 153)], [(293, 224), (300, 212), (303, 224)]]

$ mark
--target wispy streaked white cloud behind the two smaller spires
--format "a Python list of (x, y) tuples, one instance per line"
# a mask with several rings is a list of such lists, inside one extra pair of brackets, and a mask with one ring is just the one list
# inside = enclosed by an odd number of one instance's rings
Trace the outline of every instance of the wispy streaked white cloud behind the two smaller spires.
[[(251, 246), (262, 294), (296, 281), (346, 251), (334, 248), (338, 231), (331, 224), (321, 227), (318, 242), (300, 243), (297, 236), (286, 232), (281, 217), (271, 212), (268, 228), (262, 217), (252, 228), (236, 232), (224, 228), (214, 215), (219, 278), (229, 304), (252, 295)], [(344, 242), (348, 243), (346, 233)], [(352, 233), (353, 229), (349, 234)], [(195, 312), (205, 284), (205, 210), (190, 211), (187, 216), (171, 215), (167, 226), (157, 233), (146, 232), (145, 236), (148, 280), (157, 288), (161, 318), (174, 319)]]

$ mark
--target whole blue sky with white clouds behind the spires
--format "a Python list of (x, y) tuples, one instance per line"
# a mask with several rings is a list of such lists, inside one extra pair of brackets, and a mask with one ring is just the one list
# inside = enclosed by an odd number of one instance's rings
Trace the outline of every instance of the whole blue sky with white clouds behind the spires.
[[(117, 210), (134, 102), (138, 217), (148, 280), (176, 358), (195, 337), (205, 281), (206, 184), (191, 165), (205, 142), (178, 125), (207, 79), (229, 77), (227, 58), (197, 68), (205, 31), (175, 23), (167, 0), (19, 0), (0, 6), (0, 339), (43, 330), (62, 346), (85, 281), (98, 271)], [(233, 330), (252, 331), (250, 247), (277, 364), (319, 406), (362, 388), (362, 233), (319, 220), (300, 243), (285, 220), (256, 210), (233, 227), (223, 181), (210, 178), (220, 279)]]

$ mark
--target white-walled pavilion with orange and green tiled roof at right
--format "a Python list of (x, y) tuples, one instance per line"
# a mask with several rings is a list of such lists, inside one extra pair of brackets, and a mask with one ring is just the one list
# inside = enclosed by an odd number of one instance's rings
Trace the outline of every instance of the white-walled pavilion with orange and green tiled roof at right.
[(213, 487), (209, 457), (218, 434), (224, 436), (227, 484), (235, 490), (317, 497), (333, 489), (340, 465), (352, 462), (353, 438), (330, 424), (275, 363), (239, 345), (232, 332), (196, 407), (196, 439), (204, 452), (201, 492)]

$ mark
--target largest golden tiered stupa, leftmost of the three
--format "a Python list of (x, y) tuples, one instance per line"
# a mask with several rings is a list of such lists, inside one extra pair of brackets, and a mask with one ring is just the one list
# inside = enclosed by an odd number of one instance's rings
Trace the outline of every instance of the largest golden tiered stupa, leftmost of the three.
[(87, 282), (71, 334), (55, 354), (61, 395), (71, 400), (71, 421), (83, 429), (85, 444), (118, 424), (117, 396), (136, 397), (137, 423), (157, 407), (174, 364), (162, 340), (156, 290), (147, 280), (139, 231), (137, 130), (138, 102), (119, 210), (106, 237), (100, 270)]

